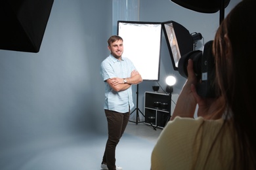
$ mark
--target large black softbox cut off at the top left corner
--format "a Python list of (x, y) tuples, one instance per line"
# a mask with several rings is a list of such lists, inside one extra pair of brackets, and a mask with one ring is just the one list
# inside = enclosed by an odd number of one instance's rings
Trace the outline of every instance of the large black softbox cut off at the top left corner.
[(0, 49), (39, 52), (54, 0), (1, 0)]

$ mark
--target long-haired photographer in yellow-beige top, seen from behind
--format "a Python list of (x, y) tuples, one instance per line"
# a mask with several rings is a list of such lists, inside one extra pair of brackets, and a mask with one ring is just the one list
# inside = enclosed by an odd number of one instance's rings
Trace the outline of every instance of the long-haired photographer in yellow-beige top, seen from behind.
[(255, 4), (238, 3), (217, 30), (212, 48), (217, 97), (198, 95), (188, 60), (188, 80), (154, 147), (152, 170), (256, 169)]

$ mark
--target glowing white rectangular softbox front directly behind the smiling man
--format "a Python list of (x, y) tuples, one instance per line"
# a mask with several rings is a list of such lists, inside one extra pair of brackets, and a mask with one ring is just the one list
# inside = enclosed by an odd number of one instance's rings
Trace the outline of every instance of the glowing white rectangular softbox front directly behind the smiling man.
[(123, 57), (131, 59), (143, 80), (158, 81), (161, 23), (118, 21), (117, 25), (117, 34), (123, 38)]

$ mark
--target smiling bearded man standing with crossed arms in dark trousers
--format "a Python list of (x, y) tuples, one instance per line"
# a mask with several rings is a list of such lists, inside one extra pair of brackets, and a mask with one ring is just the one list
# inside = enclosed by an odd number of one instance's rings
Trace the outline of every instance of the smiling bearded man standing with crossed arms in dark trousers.
[(130, 109), (134, 106), (132, 84), (142, 82), (142, 77), (128, 58), (122, 58), (123, 39), (113, 35), (108, 39), (111, 54), (100, 65), (100, 74), (105, 83), (104, 110), (108, 120), (108, 141), (101, 168), (116, 170), (116, 145), (129, 121)]

